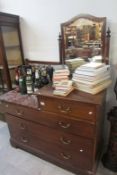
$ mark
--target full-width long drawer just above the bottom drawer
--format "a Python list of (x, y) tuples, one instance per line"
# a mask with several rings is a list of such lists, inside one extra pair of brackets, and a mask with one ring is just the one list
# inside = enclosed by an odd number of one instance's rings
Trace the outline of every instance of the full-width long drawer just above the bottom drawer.
[[(70, 151), (75, 149), (78, 152), (83, 152), (83, 154), (88, 157), (92, 157), (92, 140), (27, 122), (11, 115), (7, 115), (6, 120), (8, 122), (11, 136), (16, 140), (19, 139), (19, 141), (24, 143), (26, 142), (25, 140), (27, 140), (27, 143), (29, 143), (30, 139), (37, 137), (38, 140), (46, 141), (48, 144), (51, 143), (52, 145), (58, 145), (61, 149)], [(28, 139), (29, 137), (30, 139)]]

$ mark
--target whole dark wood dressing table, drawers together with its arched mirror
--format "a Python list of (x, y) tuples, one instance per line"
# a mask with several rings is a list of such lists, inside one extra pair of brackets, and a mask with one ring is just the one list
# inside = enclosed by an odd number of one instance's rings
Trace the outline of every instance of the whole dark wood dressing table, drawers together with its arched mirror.
[[(79, 20), (84, 27), (79, 27)], [(94, 24), (101, 26), (100, 34), (90, 34)], [(102, 61), (108, 62), (106, 18), (80, 15), (61, 27), (59, 46), (62, 64), (65, 59), (73, 57), (74, 49), (77, 50), (77, 56), (82, 53), (84, 59), (89, 57), (86, 53), (92, 56), (98, 50)], [(86, 31), (85, 40), (77, 39), (78, 27), (82, 33), (80, 36), (84, 37)], [(96, 36), (99, 38), (94, 40)], [(92, 50), (96, 52), (91, 53)], [(29, 151), (73, 173), (94, 175), (103, 151), (105, 98), (106, 91), (91, 95), (74, 90), (66, 97), (55, 96), (52, 86), (47, 85), (31, 96), (16, 91), (0, 96), (0, 110), (5, 113), (10, 142), (14, 147)]]

